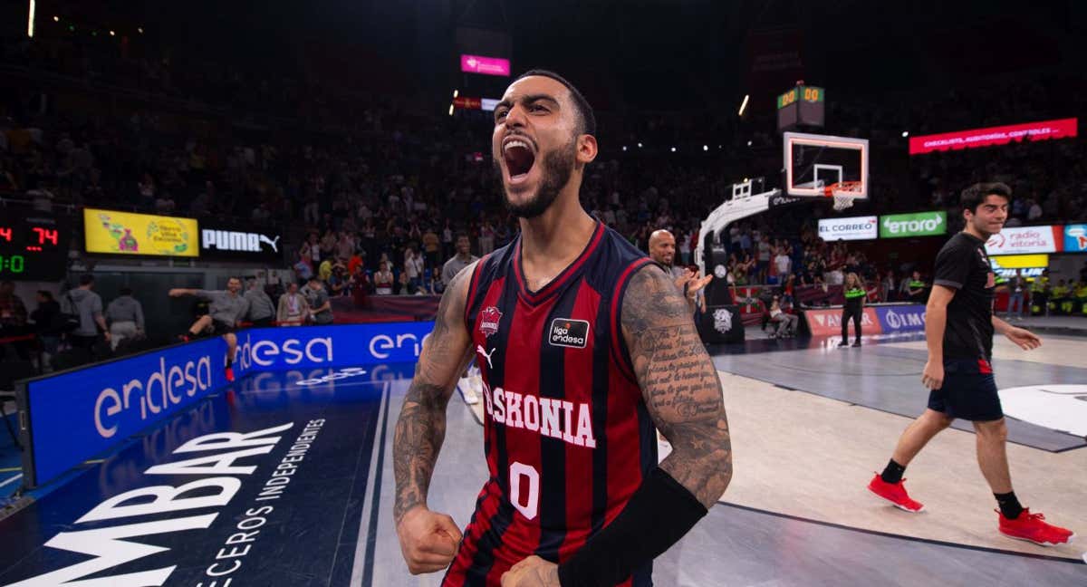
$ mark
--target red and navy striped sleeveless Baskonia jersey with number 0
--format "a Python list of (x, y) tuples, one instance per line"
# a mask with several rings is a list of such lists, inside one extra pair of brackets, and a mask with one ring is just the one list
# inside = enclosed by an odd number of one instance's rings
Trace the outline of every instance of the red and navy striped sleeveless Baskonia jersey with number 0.
[[(522, 273), (520, 237), (476, 265), (464, 320), (484, 382), (489, 478), (443, 586), (498, 587), (526, 557), (569, 559), (657, 466), (657, 433), (620, 327), (630, 277), (650, 263), (598, 223), (538, 291)], [(652, 585), (651, 572), (647, 564), (620, 585)]]

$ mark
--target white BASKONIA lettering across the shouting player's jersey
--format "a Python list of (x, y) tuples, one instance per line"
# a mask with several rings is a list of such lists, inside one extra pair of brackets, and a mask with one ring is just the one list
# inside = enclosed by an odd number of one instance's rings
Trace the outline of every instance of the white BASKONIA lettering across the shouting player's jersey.
[(592, 411), (588, 403), (537, 398), (501, 387), (491, 390), (486, 383), (483, 400), (487, 415), (499, 424), (539, 433), (578, 447), (597, 448), (597, 438), (592, 434)]

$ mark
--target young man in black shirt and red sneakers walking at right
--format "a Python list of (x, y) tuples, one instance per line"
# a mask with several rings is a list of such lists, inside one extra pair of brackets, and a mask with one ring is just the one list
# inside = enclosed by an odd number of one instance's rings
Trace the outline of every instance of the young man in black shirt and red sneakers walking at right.
[(966, 228), (936, 255), (935, 283), (925, 309), (928, 362), (921, 383), (932, 390), (928, 409), (902, 433), (890, 462), (869, 489), (902, 510), (922, 511), (924, 505), (910, 499), (902, 485), (905, 466), (955, 419), (970, 420), (977, 433), (977, 462), (1000, 507), (1000, 532), (1052, 546), (1071, 541), (1073, 534), (1032, 514), (1012, 490), (1004, 449), (1008, 427), (990, 365), (994, 330), (1024, 350), (1041, 345), (1037, 336), (992, 314), (996, 280), (985, 242), (1008, 218), (1011, 193), (1004, 184), (975, 184), (962, 192)]

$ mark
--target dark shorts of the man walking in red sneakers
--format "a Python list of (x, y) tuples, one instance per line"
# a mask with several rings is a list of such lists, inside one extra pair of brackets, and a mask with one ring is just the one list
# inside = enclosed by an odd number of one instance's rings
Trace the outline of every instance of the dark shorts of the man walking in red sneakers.
[(974, 422), (1004, 417), (992, 365), (985, 359), (945, 359), (944, 385), (928, 395), (928, 409)]

